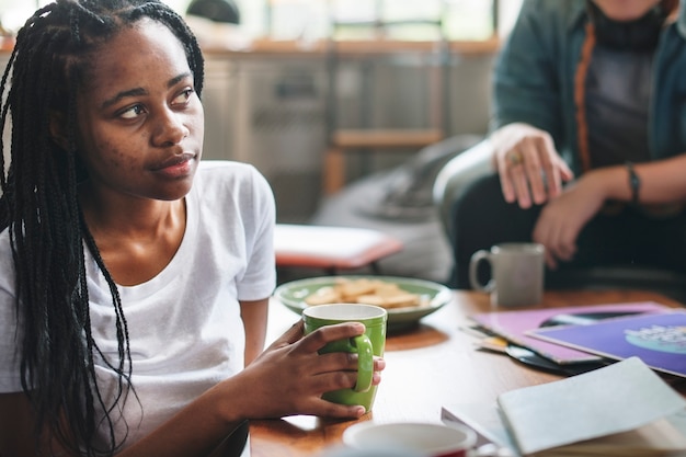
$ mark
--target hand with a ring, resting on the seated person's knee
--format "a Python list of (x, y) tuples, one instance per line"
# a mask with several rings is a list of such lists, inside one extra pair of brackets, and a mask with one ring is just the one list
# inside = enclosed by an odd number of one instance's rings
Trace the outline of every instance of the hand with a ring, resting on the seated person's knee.
[(495, 130), (490, 140), (503, 197), (508, 203), (517, 202), (522, 208), (542, 205), (560, 195), (562, 183), (574, 178), (547, 132), (514, 123)]

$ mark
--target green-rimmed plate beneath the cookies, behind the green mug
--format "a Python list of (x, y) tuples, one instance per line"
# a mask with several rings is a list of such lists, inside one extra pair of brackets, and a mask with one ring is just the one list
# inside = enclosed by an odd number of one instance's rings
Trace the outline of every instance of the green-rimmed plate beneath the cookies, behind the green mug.
[(351, 281), (369, 278), (395, 283), (403, 290), (412, 294), (419, 294), (428, 299), (427, 305), (389, 309), (389, 330), (398, 330), (415, 325), (419, 323), (421, 318), (431, 315), (453, 299), (453, 293), (450, 289), (441, 284), (433, 283), (431, 281), (396, 276), (323, 276), (298, 279), (278, 286), (274, 292), (274, 297), (284, 304), (288, 309), (299, 315), (308, 306), (305, 302), (305, 298), (321, 287), (331, 287), (335, 285), (341, 278)]

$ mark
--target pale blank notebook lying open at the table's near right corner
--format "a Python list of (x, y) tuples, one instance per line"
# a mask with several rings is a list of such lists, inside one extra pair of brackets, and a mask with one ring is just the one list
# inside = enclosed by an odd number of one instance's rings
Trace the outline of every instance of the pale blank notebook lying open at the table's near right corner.
[(525, 456), (686, 453), (686, 400), (637, 357), (511, 390), (481, 411), (447, 404), (443, 416)]

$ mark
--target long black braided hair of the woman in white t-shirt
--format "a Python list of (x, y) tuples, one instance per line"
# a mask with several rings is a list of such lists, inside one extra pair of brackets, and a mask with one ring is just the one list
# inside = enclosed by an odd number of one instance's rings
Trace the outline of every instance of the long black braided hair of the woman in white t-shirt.
[[(47, 433), (87, 456), (112, 455), (121, 447), (112, 414), (135, 390), (122, 301), (77, 198), (77, 185), (88, 176), (77, 155), (76, 100), (88, 79), (89, 56), (106, 53), (111, 38), (142, 18), (164, 24), (179, 38), (199, 95), (198, 44), (160, 0), (57, 0), (20, 30), (0, 80), (0, 128), (11, 125), (7, 165), (0, 139), (0, 230), (9, 230), (16, 275), (22, 388), (36, 411), (36, 443)], [(55, 113), (65, 121), (67, 145), (50, 138)], [(91, 333), (84, 245), (112, 292), (118, 341), (118, 361), (110, 365), (118, 375), (114, 395), (101, 392), (96, 382), (94, 361), (104, 357)], [(105, 416), (96, 418), (96, 409)], [(102, 427), (110, 432), (106, 449), (94, 444)]]

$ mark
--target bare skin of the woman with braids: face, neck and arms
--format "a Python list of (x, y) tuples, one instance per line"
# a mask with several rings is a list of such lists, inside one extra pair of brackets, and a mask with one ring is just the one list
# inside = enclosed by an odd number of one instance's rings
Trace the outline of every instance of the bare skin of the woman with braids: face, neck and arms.
[[(80, 198), (107, 270), (122, 285), (155, 277), (185, 231), (185, 201), (201, 159), (203, 111), (182, 45), (141, 20), (93, 56), (79, 98), (79, 150), (90, 180)], [(64, 138), (59, 116), (56, 140)], [(319, 355), (327, 343), (364, 333), (344, 323), (304, 335), (298, 322), (264, 352), (268, 297), (241, 302), (247, 367), (197, 397), (121, 452), (134, 457), (206, 457), (243, 421), (312, 414), (355, 419), (363, 407), (334, 404), (325, 391), (352, 388), (356, 355)], [(374, 384), (385, 362), (375, 361)], [(250, 395), (245, 395), (250, 392)], [(34, 457), (35, 418), (24, 393), (0, 395), (0, 455)], [(67, 424), (68, 430), (68, 424)], [(53, 449), (70, 456), (58, 443)], [(45, 448), (38, 455), (48, 455)]]

